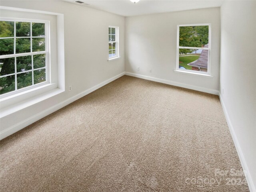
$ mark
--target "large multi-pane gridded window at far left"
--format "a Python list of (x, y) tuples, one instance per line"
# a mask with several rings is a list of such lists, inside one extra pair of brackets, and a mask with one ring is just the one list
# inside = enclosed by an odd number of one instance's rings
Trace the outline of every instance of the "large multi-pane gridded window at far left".
[(1, 96), (49, 82), (47, 29), (47, 21), (1, 18)]

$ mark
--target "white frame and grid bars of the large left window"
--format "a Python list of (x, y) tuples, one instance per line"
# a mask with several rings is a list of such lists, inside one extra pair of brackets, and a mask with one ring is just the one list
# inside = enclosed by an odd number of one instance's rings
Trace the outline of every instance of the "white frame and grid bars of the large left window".
[[(2, 99), (2, 98), (5, 98), (5, 97), (8, 97), (8, 96), (12, 96), (14, 94), (18, 94), (20, 92), (24, 92), (24, 91), (27, 91), (27, 90), (30, 90), (30, 89), (34, 89), (34, 88), (37, 88), (37, 87), (40, 87), (40, 86), (44, 86), (46, 84), (50, 84), (50, 48), (49, 48), (49, 45), (50, 45), (50, 41), (49, 41), (49, 39), (50, 39), (50, 37), (49, 37), (49, 35), (50, 35), (50, 32), (49, 32), (50, 31), (50, 22), (46, 21), (46, 20), (32, 20), (32, 19), (19, 19), (19, 18), (0, 18), (0, 21), (14, 22), (14, 37), (0, 37), (0, 39), (14, 38), (14, 54), (0, 55), (0, 59), (13, 58), (13, 57), (15, 58), (15, 72), (12, 73), (12, 74), (7, 74), (7, 75), (2, 75), (1, 76), (1, 77), (5, 77), (5, 76), (10, 76), (10, 75), (15, 75), (15, 90), (11, 91), (11, 92), (8, 92), (8, 93), (5, 93), (5, 94), (2, 94), (0, 96), (0, 98)], [(30, 31), (31, 31), (30, 37), (16, 37), (16, 22), (30, 22)], [(32, 23), (44, 23), (45, 24), (45, 37), (44, 37), (45, 38), (45, 51), (32, 52), (32, 38), (42, 38), (42, 37), (33, 37), (32, 36)], [(16, 54), (16, 47), (15, 47), (16, 38), (30, 38), (30, 52), (17, 53)], [(46, 55), (46, 58), (45, 58), (46, 65), (45, 65), (45, 67), (38, 68), (38, 69), (45, 69), (46, 70), (46, 81), (38, 83), (38, 84), (34, 84), (34, 72), (32, 72), (32, 85), (28, 86), (28, 87), (17, 89), (17, 74), (24, 73), (24, 72), (17, 72), (17, 70), (16, 70), (16, 57), (30, 56), (31, 55), (31, 57), (32, 57), (32, 69), (26, 71), (26, 72), (30, 72), (30, 71), (34, 71), (33, 55), (39, 55), (39, 54), (45, 54)]]

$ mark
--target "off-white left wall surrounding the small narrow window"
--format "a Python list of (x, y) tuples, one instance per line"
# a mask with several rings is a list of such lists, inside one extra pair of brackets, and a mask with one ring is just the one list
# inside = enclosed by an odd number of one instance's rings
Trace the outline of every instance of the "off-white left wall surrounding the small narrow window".
[[(63, 1), (1, 1), (1, 6), (64, 14), (66, 82), (65, 92), (2, 117), (1, 133), (25, 125), (26, 120), (31, 123), (36, 114), (124, 72), (124, 17)], [(108, 25), (120, 29), (121, 58), (111, 62), (107, 61)], [(72, 91), (68, 92), (70, 85)]]

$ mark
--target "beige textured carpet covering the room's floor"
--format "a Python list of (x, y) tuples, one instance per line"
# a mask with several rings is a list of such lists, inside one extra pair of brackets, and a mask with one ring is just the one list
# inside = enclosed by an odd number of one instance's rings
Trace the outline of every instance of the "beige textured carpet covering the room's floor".
[(3, 139), (0, 155), (1, 192), (248, 191), (218, 96), (130, 76)]

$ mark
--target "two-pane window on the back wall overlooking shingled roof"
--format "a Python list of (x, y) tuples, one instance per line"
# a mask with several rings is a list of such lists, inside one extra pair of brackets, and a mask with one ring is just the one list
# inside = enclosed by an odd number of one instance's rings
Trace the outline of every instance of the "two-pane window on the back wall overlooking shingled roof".
[(210, 24), (178, 25), (177, 70), (210, 74)]

